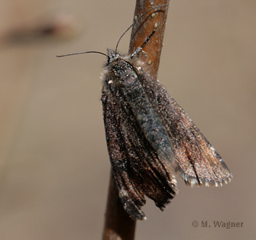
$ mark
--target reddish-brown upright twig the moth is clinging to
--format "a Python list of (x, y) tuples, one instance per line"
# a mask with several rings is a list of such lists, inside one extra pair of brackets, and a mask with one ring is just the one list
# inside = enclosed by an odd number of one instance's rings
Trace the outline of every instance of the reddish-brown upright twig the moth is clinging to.
[[(154, 5), (151, 5), (150, 2), (154, 2)], [(150, 41), (143, 47), (143, 52), (146, 52), (146, 56), (145, 54), (140, 54), (142, 61), (145, 61), (148, 64), (147, 71), (154, 78), (157, 78), (158, 74), (168, 4), (169, 0), (137, 0), (135, 6), (134, 19), (138, 19), (142, 14), (155, 6), (167, 5), (162, 6), (157, 10), (152, 10), (152, 12), (150, 11), (149, 14), (146, 14), (145, 18), (141, 18), (138, 23), (133, 26), (130, 38), (129, 54), (132, 54), (139, 46), (142, 46), (142, 43), (145, 42), (146, 38), (148, 38), (152, 31), (154, 29), (156, 30), (154, 36), (150, 38)], [(102, 239), (133, 240), (135, 226), (136, 221), (132, 220), (122, 207), (122, 203), (118, 197), (118, 188), (111, 171), (105, 226)]]

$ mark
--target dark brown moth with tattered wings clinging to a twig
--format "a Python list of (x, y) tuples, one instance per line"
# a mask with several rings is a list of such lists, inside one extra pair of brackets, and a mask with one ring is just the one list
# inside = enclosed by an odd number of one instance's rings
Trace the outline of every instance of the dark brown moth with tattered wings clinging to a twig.
[(221, 156), (166, 89), (146, 72), (138, 57), (142, 47), (131, 55), (119, 54), (117, 49), (118, 45), (107, 54), (84, 53), (107, 58), (102, 74), (106, 143), (119, 197), (130, 218), (146, 219), (142, 211), (145, 196), (164, 210), (178, 193), (177, 172), (190, 186), (230, 182), (232, 175)]

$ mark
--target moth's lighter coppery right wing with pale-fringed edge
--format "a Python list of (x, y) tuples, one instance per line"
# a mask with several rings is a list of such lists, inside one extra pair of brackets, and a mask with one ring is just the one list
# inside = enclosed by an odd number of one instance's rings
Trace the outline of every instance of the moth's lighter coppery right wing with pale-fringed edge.
[[(145, 74), (145, 73), (144, 73)], [(191, 186), (222, 186), (232, 175), (221, 156), (210, 145), (181, 106), (154, 78), (140, 76), (150, 102), (158, 110), (172, 143), (175, 162), (185, 182)]]

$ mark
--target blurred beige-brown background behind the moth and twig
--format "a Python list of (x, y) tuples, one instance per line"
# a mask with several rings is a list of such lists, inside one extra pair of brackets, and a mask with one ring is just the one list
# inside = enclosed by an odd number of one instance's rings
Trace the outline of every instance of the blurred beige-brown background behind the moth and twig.
[[(55, 55), (106, 52), (130, 26), (134, 6), (1, 2), (1, 240), (102, 238), (110, 162), (99, 75), (106, 59)], [(254, 0), (170, 2), (158, 78), (234, 178), (193, 189), (178, 178), (179, 193), (164, 212), (147, 200), (136, 239), (255, 239), (255, 10)], [(129, 41), (126, 34), (119, 50)]]

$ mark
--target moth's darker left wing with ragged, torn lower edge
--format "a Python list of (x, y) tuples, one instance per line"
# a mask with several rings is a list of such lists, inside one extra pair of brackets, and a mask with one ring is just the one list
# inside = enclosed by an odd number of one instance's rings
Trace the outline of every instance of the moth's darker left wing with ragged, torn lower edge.
[(136, 121), (126, 98), (111, 79), (102, 87), (106, 142), (119, 196), (133, 219), (143, 219), (145, 195), (163, 210), (174, 198), (174, 176), (158, 158)]

